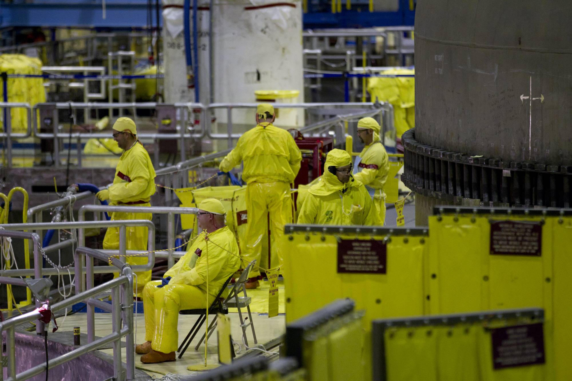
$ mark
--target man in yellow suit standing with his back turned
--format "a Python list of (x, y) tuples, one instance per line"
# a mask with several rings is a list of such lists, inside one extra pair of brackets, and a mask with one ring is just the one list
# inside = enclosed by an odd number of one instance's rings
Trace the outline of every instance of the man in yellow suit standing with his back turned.
[[(283, 264), (280, 247), (284, 225), (293, 222), (293, 205), (290, 195), (291, 182), (300, 170), (302, 155), (287, 130), (272, 125), (274, 108), (260, 104), (256, 108), (256, 127), (239, 138), (236, 147), (224, 158), (219, 169), (229, 172), (244, 161), (243, 180), (247, 183), (247, 237), (243, 257), (246, 263), (260, 263), (264, 236), (268, 231), (267, 216), (275, 244), (272, 256), (276, 261), (269, 268)], [(259, 269), (253, 269), (247, 288), (259, 286)]]

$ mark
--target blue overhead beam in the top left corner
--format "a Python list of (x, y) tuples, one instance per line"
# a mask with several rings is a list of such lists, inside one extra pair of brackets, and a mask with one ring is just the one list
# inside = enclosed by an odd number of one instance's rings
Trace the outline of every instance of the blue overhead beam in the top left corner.
[[(110, 27), (144, 28), (146, 0), (37, 0), (0, 4), (0, 27)], [(155, 2), (152, 26), (157, 23)], [(161, 20), (160, 20), (161, 24)]]

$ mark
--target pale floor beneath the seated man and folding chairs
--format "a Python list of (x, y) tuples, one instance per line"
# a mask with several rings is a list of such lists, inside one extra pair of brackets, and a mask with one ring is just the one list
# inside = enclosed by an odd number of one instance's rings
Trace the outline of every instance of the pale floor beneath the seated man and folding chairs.
[[(239, 326), (239, 314), (229, 313), (227, 316), (231, 319), (231, 335), (235, 342), (242, 343), (242, 330)], [(244, 315), (243, 315), (244, 316)], [(209, 318), (210, 319), (210, 318)], [(59, 319), (58, 319), (59, 320)], [(63, 320), (63, 319), (62, 319)], [(179, 315), (178, 321), (178, 332), (179, 332), (179, 344), (185, 338), (186, 334), (192, 328), (196, 320), (195, 316), (185, 316)], [(260, 315), (258, 313), (252, 313), (252, 320), (254, 322), (256, 338), (259, 344), (264, 344), (272, 339), (283, 335), (285, 328), (285, 316), (279, 315), (274, 318), (268, 318), (268, 315)], [(145, 341), (145, 321), (142, 313), (137, 315), (134, 319), (136, 325), (136, 343), (143, 343)], [(59, 321), (58, 321), (59, 323)], [(81, 332), (87, 332), (87, 322), (85, 313), (76, 313), (72, 316), (67, 316), (65, 322), (59, 323), (58, 331), (73, 331), (73, 327), (81, 327)], [(111, 315), (109, 313), (96, 313), (96, 336), (105, 336), (111, 333)], [(204, 333), (204, 326), (200, 332), (202, 335)], [(197, 335), (198, 336), (198, 335)], [(248, 327), (247, 339), (249, 345), (252, 347), (252, 331)], [(193, 340), (193, 343), (187, 348), (182, 359), (177, 359), (174, 362), (167, 362), (161, 364), (143, 364), (140, 362), (141, 355), (135, 355), (135, 366), (143, 371), (145, 371), (150, 376), (156, 376), (160, 378), (162, 375), (173, 373), (190, 375), (193, 372), (188, 371), (186, 368), (191, 365), (204, 364), (205, 347), (204, 343), (198, 348), (198, 351), (194, 350), (194, 346), (198, 342), (198, 338)], [(84, 344), (84, 343), (82, 343)], [(217, 352), (217, 339), (216, 334), (210, 336), (208, 348), (206, 351), (206, 359), (208, 364), (218, 363), (218, 352)], [(277, 350), (277, 348), (275, 348)], [(112, 355), (113, 350), (101, 350), (102, 352)], [(235, 351), (237, 351), (237, 346), (235, 346)], [(237, 356), (245, 352), (244, 346)], [(122, 348), (122, 360), (125, 361), (125, 348)], [(178, 355), (178, 354), (177, 354)]]

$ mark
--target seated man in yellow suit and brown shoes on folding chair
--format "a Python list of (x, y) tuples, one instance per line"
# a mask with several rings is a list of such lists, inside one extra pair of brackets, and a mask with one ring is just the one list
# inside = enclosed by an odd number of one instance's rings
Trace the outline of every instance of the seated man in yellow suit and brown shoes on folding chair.
[(198, 209), (200, 235), (162, 280), (150, 281), (143, 290), (146, 342), (135, 348), (137, 354), (144, 355), (142, 363), (174, 361), (178, 312), (212, 304), (225, 281), (240, 267), (239, 247), (234, 233), (225, 225), (223, 204), (206, 199), (198, 204)]

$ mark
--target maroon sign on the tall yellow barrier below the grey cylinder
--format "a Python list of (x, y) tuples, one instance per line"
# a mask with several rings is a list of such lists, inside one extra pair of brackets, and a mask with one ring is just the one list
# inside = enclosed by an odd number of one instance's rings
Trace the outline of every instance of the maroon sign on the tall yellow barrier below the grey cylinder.
[(540, 222), (491, 222), (490, 253), (493, 255), (541, 255)]

